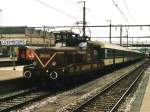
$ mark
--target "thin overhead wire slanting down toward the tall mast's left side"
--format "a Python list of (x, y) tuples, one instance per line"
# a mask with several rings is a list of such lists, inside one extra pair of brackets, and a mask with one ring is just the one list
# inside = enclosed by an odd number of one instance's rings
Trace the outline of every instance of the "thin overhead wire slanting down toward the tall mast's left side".
[(77, 18), (71, 16), (70, 14), (68, 14), (68, 13), (66, 13), (66, 12), (63, 12), (62, 10), (57, 9), (57, 8), (55, 8), (55, 7), (49, 5), (49, 4), (47, 4), (47, 3), (45, 3), (45, 2), (43, 2), (43, 1), (41, 1), (41, 0), (36, 0), (36, 1), (39, 2), (39, 3), (41, 3), (42, 5), (45, 5), (45, 6), (51, 8), (51, 9), (53, 9), (53, 10), (55, 10), (55, 11), (61, 13), (61, 14), (63, 14), (63, 15), (65, 15), (65, 16), (68, 16), (68, 17), (70, 17), (70, 18), (72, 18), (72, 19), (74, 19), (74, 20), (77, 20)]

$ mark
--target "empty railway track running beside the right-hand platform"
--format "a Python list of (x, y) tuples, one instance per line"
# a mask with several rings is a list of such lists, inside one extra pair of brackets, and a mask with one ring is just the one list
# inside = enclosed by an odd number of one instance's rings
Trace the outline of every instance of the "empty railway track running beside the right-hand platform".
[(85, 102), (70, 109), (71, 112), (114, 112), (134, 87), (150, 62), (119, 78)]

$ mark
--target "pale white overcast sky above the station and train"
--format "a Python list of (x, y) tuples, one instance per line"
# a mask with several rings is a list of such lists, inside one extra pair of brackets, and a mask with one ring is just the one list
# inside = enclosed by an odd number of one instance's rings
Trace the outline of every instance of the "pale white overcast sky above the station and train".
[[(85, 0), (88, 25), (150, 24), (149, 0)], [(43, 5), (45, 3), (46, 5)], [(116, 7), (119, 7), (119, 9)], [(82, 21), (79, 0), (0, 0), (2, 26), (58, 26)], [(122, 14), (120, 13), (120, 11)], [(124, 15), (124, 16), (123, 16)], [(142, 29), (142, 30), (141, 30)], [(109, 36), (108, 28), (92, 29), (92, 35)], [(119, 36), (119, 28), (112, 28)], [(148, 35), (150, 28), (129, 29), (129, 35)], [(126, 35), (126, 29), (123, 29)]]

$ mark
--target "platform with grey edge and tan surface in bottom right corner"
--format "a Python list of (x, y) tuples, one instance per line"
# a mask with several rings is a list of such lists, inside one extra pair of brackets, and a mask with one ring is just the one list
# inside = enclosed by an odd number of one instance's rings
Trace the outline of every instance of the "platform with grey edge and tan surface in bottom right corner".
[(126, 112), (150, 112), (150, 67), (145, 71), (134, 95), (128, 101)]

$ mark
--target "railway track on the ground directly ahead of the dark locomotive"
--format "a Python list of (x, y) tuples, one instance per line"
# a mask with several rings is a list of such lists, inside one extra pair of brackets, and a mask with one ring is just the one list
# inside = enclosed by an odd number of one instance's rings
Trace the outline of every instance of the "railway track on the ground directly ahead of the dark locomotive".
[(36, 88), (26, 89), (0, 98), (0, 112), (20, 109), (29, 103), (38, 101), (50, 95), (49, 91)]

